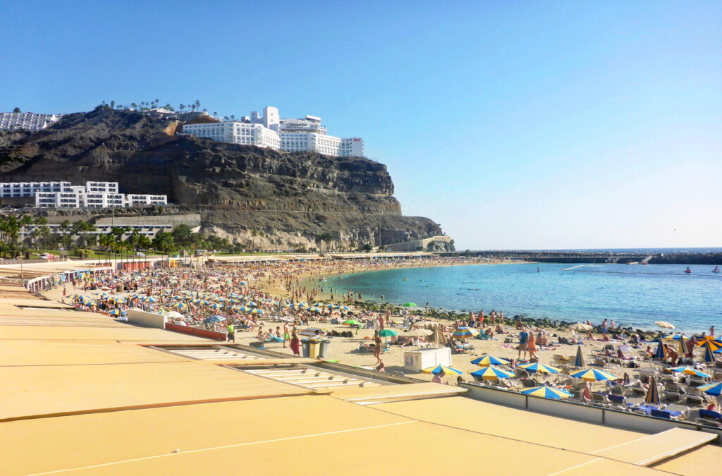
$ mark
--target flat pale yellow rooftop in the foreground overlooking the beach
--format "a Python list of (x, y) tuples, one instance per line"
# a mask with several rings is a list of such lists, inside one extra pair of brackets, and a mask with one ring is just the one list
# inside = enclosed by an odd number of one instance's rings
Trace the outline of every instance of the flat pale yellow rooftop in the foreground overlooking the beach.
[[(331, 349), (342, 339), (332, 338)], [(711, 433), (591, 425), (341, 360), (281, 354), (268, 363), (254, 347), (127, 324), (8, 278), (0, 290), (0, 434), (12, 441), (0, 450), (4, 474), (428, 474), (450, 464), (460, 474), (699, 474), (722, 457)], [(367, 384), (279, 377), (295, 373)]]

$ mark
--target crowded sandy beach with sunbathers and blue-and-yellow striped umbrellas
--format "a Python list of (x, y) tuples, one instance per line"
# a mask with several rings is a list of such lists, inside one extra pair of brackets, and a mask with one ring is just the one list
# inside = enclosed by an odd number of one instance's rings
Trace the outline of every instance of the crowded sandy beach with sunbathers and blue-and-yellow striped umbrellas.
[[(722, 341), (714, 327), (686, 335), (657, 321), (658, 331), (636, 332), (603, 318), (541, 326), (496, 310), (442, 319), (428, 305), (370, 306), (363, 296), (326, 284), (340, 274), (453, 264), (479, 261), (207, 262), (199, 269), (84, 274), (57, 282), (45, 295), (109, 319), (124, 319), (131, 308), (162, 313), (168, 322), (289, 355), (308, 356), (309, 342), (318, 341), (321, 358), (346, 365), (722, 427), (722, 362), (716, 359)], [(406, 352), (427, 348), (448, 348), (451, 362), (409, 371)]]

